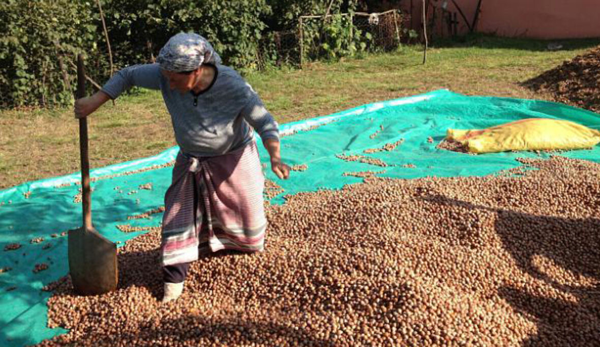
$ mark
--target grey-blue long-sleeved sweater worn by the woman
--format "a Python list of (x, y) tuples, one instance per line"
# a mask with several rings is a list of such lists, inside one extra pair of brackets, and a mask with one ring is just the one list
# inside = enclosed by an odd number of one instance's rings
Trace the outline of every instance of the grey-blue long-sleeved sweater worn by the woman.
[(111, 98), (140, 86), (160, 89), (171, 115), (175, 139), (184, 154), (204, 157), (241, 148), (254, 138), (279, 139), (277, 122), (252, 87), (230, 67), (216, 65), (211, 87), (193, 95), (169, 88), (158, 64), (134, 65), (115, 74), (102, 88)]

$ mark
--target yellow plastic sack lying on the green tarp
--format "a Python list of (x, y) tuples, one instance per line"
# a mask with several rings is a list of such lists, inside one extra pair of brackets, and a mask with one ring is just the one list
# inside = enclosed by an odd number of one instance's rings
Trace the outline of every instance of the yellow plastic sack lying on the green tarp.
[(550, 151), (590, 148), (600, 142), (600, 131), (570, 121), (529, 118), (483, 130), (448, 129), (446, 140), (473, 153)]

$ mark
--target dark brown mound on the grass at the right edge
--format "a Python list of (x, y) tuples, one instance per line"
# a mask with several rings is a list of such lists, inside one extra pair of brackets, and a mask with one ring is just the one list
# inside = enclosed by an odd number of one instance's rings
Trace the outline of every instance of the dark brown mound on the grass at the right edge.
[(556, 101), (600, 113), (600, 46), (522, 83)]

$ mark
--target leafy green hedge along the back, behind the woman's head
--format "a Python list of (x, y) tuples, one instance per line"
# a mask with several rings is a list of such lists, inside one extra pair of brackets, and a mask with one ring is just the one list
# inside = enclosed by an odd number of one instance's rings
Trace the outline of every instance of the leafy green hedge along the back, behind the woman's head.
[[(85, 53), (88, 75), (110, 77), (109, 54), (98, 0), (0, 1), (0, 107), (58, 106), (73, 101), (74, 61)], [(152, 61), (172, 35), (197, 32), (224, 64), (254, 69), (259, 44), (273, 31), (289, 30), (304, 14), (323, 14), (322, 0), (100, 0), (114, 70)], [(311, 23), (305, 40), (320, 46), (311, 59), (352, 55), (361, 37), (339, 16), (358, 0), (333, 0), (328, 21)], [(263, 45), (265, 46), (265, 45)], [(268, 45), (266, 45), (268, 47)], [(277, 59), (275, 53), (262, 56)]]

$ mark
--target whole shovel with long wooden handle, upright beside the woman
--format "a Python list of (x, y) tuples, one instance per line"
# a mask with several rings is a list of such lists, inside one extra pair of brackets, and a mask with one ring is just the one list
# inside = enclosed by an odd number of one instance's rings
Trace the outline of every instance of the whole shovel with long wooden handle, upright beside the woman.
[[(77, 56), (77, 98), (85, 96), (83, 55)], [(79, 148), (83, 193), (83, 226), (68, 232), (69, 272), (79, 295), (98, 295), (116, 289), (118, 280), (116, 244), (92, 226), (92, 200), (89, 186), (88, 119), (79, 119)]]

